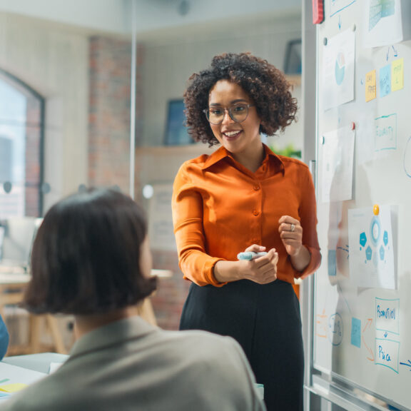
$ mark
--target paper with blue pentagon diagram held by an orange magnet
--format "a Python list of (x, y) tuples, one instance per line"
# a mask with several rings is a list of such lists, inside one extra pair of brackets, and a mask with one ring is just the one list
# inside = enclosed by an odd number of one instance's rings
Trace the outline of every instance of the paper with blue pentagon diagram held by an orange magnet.
[(395, 289), (392, 206), (348, 210), (350, 278), (358, 287)]

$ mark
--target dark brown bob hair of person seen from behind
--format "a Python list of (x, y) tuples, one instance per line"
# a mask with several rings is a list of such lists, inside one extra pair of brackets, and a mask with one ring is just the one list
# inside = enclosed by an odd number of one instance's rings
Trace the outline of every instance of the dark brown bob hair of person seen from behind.
[(90, 315), (135, 305), (156, 289), (140, 267), (143, 209), (114, 189), (88, 190), (46, 213), (31, 253), (24, 306), (33, 313)]

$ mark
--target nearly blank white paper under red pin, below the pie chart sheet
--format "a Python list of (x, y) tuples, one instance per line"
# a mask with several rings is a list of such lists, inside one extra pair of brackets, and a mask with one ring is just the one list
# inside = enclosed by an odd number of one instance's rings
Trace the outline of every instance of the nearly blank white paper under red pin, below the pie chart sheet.
[(322, 200), (345, 201), (352, 198), (355, 131), (349, 127), (325, 133), (322, 148)]

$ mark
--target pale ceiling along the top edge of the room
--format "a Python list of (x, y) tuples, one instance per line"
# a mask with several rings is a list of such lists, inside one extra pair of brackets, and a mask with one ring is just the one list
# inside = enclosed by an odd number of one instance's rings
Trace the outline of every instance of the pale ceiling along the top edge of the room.
[(131, 31), (133, 1), (138, 34), (301, 7), (301, 0), (188, 0), (188, 13), (181, 15), (182, 0), (0, 0), (0, 11), (126, 34)]

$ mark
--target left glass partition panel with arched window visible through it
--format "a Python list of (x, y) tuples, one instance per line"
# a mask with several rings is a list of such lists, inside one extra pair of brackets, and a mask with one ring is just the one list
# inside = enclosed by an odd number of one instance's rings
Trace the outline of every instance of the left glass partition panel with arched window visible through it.
[(44, 10), (36, 0), (24, 11), (0, 5), (0, 314), (8, 355), (67, 352), (73, 342), (70, 317), (34, 322), (18, 307), (41, 217), (86, 187), (130, 190), (131, 16), (123, 1), (102, 3), (82, 4), (81, 14), (77, 1)]

